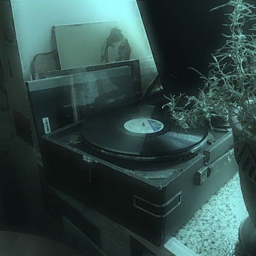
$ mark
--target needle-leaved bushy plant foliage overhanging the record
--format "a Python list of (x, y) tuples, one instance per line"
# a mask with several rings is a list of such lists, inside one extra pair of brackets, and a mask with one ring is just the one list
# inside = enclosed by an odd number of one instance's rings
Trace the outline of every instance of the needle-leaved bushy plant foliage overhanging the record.
[[(255, 7), (244, 0), (230, 0), (210, 11), (232, 6), (228, 15), (230, 34), (225, 35), (226, 43), (212, 54), (208, 76), (200, 74), (204, 87), (195, 96), (180, 94), (166, 97), (168, 113), (183, 129), (196, 128), (204, 124), (212, 129), (213, 118), (236, 115), (243, 131), (256, 135), (256, 15)], [(244, 26), (252, 23), (247, 33)], [(182, 97), (184, 106), (178, 106)]]

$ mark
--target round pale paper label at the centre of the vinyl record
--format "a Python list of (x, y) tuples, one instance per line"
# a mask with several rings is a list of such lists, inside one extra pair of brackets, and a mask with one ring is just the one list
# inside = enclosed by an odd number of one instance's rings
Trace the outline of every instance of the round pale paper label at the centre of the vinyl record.
[(163, 123), (151, 118), (135, 118), (124, 123), (124, 128), (132, 133), (157, 133), (163, 129)]

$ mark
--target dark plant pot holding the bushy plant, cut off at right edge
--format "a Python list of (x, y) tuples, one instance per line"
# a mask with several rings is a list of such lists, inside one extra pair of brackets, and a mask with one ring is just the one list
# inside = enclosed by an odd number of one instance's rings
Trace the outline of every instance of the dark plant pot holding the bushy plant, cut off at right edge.
[(239, 229), (239, 238), (247, 251), (247, 255), (256, 252), (256, 139), (255, 136), (245, 137), (241, 124), (234, 124), (237, 120), (230, 120), (233, 139), (234, 156), (239, 167), (240, 184), (244, 203), (249, 219), (243, 221)]

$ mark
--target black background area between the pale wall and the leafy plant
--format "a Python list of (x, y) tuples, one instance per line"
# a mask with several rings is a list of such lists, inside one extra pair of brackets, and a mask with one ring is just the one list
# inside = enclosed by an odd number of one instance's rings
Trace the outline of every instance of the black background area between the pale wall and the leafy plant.
[[(194, 94), (203, 86), (211, 53), (225, 44), (232, 7), (210, 12), (225, 0), (137, 0), (162, 86), (166, 92)], [(255, 0), (247, 1), (254, 4)], [(174, 78), (175, 76), (176, 78)]]

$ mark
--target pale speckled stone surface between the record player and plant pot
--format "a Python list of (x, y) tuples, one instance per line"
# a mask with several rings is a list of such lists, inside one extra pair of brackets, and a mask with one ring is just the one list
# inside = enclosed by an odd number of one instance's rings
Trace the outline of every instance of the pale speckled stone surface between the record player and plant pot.
[(238, 229), (247, 216), (236, 174), (174, 237), (199, 255), (242, 256)]

